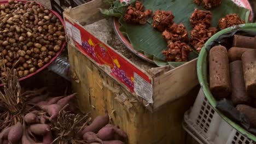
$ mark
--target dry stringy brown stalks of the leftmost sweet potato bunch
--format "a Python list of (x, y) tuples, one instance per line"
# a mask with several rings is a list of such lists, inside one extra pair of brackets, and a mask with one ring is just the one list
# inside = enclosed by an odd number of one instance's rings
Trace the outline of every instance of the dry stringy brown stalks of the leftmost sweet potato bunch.
[(43, 95), (45, 88), (37, 91), (22, 92), (18, 82), (17, 71), (6, 71), (7, 76), (2, 78), (3, 89), (0, 91), (0, 130), (11, 127), (17, 122), (23, 122), (23, 117), (32, 106), (26, 105), (31, 97)]

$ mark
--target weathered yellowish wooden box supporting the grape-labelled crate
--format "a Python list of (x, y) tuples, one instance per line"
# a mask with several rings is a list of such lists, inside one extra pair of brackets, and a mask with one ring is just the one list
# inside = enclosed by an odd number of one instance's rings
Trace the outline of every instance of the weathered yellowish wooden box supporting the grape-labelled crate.
[(130, 144), (184, 144), (183, 115), (194, 103), (199, 87), (176, 101), (166, 102), (158, 111), (150, 112), (113, 77), (73, 45), (68, 45), (72, 86), (78, 93), (77, 103), (91, 117), (107, 110), (111, 121), (129, 136)]

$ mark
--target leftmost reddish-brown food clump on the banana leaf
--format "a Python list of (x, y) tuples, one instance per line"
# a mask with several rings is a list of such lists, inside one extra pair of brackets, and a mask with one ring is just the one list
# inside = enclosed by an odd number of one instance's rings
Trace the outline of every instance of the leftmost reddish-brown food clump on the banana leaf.
[(144, 9), (144, 5), (139, 1), (135, 3), (135, 7), (129, 5), (124, 15), (124, 20), (129, 23), (146, 24), (148, 17), (152, 15), (152, 10), (147, 9), (144, 11)]

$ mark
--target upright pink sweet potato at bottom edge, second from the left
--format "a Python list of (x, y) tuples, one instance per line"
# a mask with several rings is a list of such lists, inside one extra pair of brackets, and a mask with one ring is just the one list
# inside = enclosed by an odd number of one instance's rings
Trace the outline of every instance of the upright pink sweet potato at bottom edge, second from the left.
[(8, 141), (12, 144), (18, 144), (22, 137), (22, 124), (20, 122), (16, 123), (9, 131)]

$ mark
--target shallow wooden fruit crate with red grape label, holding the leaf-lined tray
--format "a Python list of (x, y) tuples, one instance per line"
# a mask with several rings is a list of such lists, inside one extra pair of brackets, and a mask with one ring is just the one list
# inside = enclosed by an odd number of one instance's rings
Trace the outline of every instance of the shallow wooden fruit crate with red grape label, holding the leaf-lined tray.
[[(68, 43), (81, 51), (85, 57), (100, 67), (104, 73), (115, 79), (135, 97), (142, 100), (150, 111), (159, 110), (166, 103), (181, 99), (184, 95), (198, 85), (196, 75), (196, 61), (187, 62), (184, 65), (172, 68), (170, 66), (143, 70), (135, 63), (117, 52), (113, 47), (103, 43), (97, 37), (84, 29), (84, 25), (96, 22), (104, 18), (100, 8), (108, 8), (104, 0), (94, 0), (79, 7), (66, 9), (63, 17), (66, 23)], [(108, 52), (109, 59), (98, 58), (91, 55), (82, 46), (83, 41), (89, 43), (96, 51), (103, 46)], [(102, 53), (98, 52), (97, 56)], [(132, 85), (118, 79), (114, 75), (114, 65), (125, 71), (132, 80)], [(85, 65), (84, 65), (85, 67)]]

